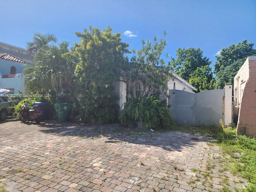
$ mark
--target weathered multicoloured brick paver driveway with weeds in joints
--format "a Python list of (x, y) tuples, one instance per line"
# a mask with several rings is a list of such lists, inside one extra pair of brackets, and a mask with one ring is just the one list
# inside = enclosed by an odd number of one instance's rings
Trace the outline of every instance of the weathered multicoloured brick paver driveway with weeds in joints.
[(24, 192), (218, 191), (223, 186), (234, 191), (245, 185), (223, 169), (220, 148), (208, 142), (204, 136), (117, 124), (5, 122), (0, 124), (0, 184)]

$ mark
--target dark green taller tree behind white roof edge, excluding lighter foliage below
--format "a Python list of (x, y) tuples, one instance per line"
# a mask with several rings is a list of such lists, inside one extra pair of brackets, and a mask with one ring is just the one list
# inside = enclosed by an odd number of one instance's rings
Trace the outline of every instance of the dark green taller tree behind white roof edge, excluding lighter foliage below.
[(186, 81), (189, 80), (190, 75), (197, 67), (209, 66), (212, 63), (209, 58), (203, 56), (203, 51), (200, 48), (179, 48), (176, 55), (177, 58), (172, 57), (171, 60), (172, 69)]

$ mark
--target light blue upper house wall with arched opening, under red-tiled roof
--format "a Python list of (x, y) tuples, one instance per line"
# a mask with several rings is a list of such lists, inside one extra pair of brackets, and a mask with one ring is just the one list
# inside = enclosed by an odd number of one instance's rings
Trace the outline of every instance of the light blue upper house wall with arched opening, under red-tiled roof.
[(0, 59), (0, 74), (10, 75), (12, 66), (16, 68), (16, 74), (19, 74), (22, 72), (25, 65), (24, 63)]

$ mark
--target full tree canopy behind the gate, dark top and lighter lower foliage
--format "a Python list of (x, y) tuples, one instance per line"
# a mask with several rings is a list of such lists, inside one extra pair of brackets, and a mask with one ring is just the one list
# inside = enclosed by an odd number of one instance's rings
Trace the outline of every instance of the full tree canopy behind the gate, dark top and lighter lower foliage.
[(189, 81), (197, 92), (213, 89), (214, 78), (209, 66), (212, 62), (203, 56), (200, 48), (179, 48), (176, 55), (176, 59), (172, 57), (171, 66), (179, 76)]

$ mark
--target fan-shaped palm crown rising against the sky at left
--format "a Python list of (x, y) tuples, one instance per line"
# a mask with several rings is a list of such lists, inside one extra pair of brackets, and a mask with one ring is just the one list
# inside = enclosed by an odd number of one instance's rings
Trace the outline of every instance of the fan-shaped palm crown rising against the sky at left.
[(32, 55), (32, 52), (38, 52), (44, 45), (51, 42), (57, 43), (58, 39), (55, 35), (46, 33), (35, 33), (33, 36), (33, 41), (27, 42), (27, 54)]

